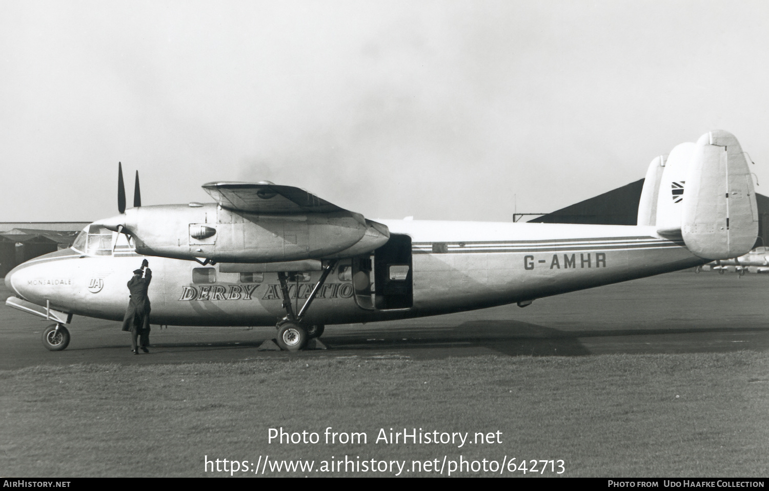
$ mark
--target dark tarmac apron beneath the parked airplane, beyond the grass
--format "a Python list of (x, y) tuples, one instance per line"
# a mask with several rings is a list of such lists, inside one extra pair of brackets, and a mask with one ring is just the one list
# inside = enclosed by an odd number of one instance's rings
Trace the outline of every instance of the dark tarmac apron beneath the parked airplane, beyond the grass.
[[(11, 292), (0, 287), (0, 298)], [(0, 370), (74, 363), (210, 363), (297, 357), (437, 359), (488, 354), (716, 353), (769, 350), (769, 275), (691, 271), (460, 314), (327, 326), (328, 350), (259, 351), (274, 327), (152, 327), (131, 353), (120, 323), (75, 317), (66, 350), (42, 346), (50, 324), (0, 307)]]

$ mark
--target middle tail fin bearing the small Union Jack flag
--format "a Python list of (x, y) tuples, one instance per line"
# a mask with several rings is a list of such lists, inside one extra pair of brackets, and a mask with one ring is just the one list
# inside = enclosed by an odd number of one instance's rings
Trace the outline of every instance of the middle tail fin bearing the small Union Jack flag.
[[(678, 144), (667, 156), (657, 193), (657, 229), (666, 237), (681, 234), (681, 208), (688, 199), (687, 174), (694, 148), (687, 141)], [(685, 192), (684, 192), (685, 191)]]

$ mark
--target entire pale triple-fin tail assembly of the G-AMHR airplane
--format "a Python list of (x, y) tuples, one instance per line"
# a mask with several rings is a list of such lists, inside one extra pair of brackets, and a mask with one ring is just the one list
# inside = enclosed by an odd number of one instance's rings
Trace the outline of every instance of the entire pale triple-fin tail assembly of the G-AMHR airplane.
[(748, 159), (734, 135), (709, 131), (649, 165), (638, 224), (683, 241), (698, 257), (747, 254), (758, 234), (758, 209)]

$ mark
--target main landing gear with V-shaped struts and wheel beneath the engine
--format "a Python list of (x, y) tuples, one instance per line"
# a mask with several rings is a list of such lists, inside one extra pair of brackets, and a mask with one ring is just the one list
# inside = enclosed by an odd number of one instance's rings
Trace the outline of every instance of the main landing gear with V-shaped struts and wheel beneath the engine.
[(291, 296), (288, 294), (288, 274), (278, 273), (278, 280), (281, 282), (281, 296), (283, 297), (283, 308), (286, 310), (286, 315), (278, 322), (276, 326), (278, 328), (278, 346), (281, 350), (286, 351), (298, 351), (307, 346), (308, 340), (312, 338), (321, 337), (325, 326), (323, 324), (308, 325), (302, 322), (307, 314), (307, 310), (312, 304), (312, 300), (318, 295), (318, 291), (328, 278), (328, 274), (337, 264), (337, 260), (332, 260), (321, 273), (318, 283), (312, 288), (310, 296), (305, 300), (305, 304), (302, 305), (298, 314), (294, 314), (294, 309), (291, 307)]

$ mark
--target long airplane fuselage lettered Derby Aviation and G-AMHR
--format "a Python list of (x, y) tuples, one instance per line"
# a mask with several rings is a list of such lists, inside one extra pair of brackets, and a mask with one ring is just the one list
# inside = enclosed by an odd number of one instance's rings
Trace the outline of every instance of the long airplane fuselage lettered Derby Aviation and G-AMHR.
[[(318, 290), (306, 323), (392, 320), (525, 303), (707, 262), (658, 235), (656, 227), (381, 223), (399, 248), (340, 260)], [(16, 267), (5, 282), (33, 304), (122, 320), (126, 283), (142, 257), (114, 243), (112, 248), (100, 255), (59, 250)], [(278, 273), (269, 265), (148, 259), (151, 323), (270, 326), (285, 316)], [(291, 272), (288, 287), (295, 310), (320, 275), (320, 267)]]

